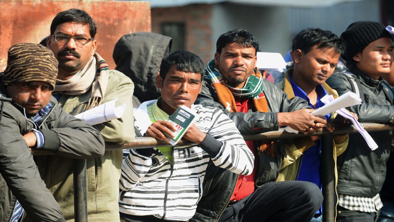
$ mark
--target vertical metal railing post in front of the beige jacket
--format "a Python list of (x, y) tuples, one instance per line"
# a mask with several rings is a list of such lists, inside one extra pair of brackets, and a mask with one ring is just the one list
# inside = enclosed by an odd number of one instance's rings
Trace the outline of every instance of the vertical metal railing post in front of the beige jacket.
[(86, 160), (74, 159), (75, 222), (87, 222)]

